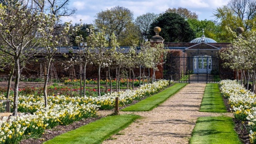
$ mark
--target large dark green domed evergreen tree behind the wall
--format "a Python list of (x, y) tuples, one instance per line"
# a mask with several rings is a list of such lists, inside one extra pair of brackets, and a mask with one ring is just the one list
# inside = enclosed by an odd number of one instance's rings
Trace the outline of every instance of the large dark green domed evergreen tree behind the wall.
[(177, 13), (161, 14), (150, 26), (150, 35), (154, 36), (154, 27), (161, 28), (161, 36), (165, 42), (189, 42), (195, 33), (189, 23)]

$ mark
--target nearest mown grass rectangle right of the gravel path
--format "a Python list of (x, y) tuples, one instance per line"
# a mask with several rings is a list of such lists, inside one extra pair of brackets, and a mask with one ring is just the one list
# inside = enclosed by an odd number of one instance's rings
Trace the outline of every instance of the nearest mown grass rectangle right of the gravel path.
[(242, 144), (230, 117), (199, 117), (190, 144)]

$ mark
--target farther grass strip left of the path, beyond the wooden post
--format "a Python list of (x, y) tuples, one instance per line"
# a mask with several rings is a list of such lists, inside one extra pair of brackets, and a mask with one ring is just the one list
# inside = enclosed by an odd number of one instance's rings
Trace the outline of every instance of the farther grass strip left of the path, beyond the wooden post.
[(122, 111), (150, 111), (150, 110), (154, 109), (155, 107), (159, 106), (170, 96), (177, 93), (185, 85), (187, 85), (187, 83), (174, 84), (173, 86), (164, 89), (160, 93), (157, 93), (151, 97), (141, 100), (140, 102), (138, 102), (134, 105), (131, 105), (129, 107), (122, 109)]

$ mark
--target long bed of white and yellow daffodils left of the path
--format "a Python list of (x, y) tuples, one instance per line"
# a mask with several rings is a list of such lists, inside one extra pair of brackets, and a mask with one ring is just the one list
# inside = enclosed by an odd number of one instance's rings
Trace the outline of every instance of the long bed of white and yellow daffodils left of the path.
[[(122, 101), (119, 103), (122, 106), (133, 100), (155, 94), (168, 85), (169, 81), (160, 80), (154, 84), (142, 85), (137, 90), (108, 93), (101, 97), (48, 96), (47, 108), (44, 108), (43, 96), (19, 96), (18, 111), (28, 114), (9, 118), (3, 117), (0, 120), (0, 143), (18, 143), (22, 139), (38, 138), (45, 129), (53, 128), (56, 125), (68, 125), (82, 118), (93, 117), (99, 108), (114, 108), (116, 97)], [(0, 96), (0, 99), (4, 99), (4, 96)]]

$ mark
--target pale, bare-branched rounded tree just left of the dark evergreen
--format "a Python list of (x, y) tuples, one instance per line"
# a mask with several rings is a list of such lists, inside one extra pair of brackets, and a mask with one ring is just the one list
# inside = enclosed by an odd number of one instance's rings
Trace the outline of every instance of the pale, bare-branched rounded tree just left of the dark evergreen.
[(139, 27), (141, 38), (149, 38), (150, 33), (150, 25), (155, 19), (158, 17), (157, 14), (154, 13), (146, 13), (138, 16), (135, 20), (135, 24)]

